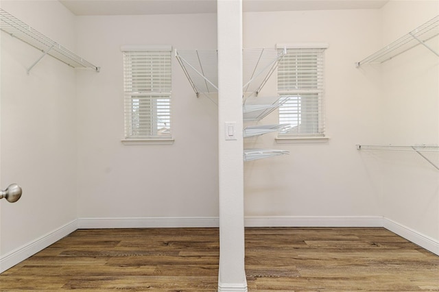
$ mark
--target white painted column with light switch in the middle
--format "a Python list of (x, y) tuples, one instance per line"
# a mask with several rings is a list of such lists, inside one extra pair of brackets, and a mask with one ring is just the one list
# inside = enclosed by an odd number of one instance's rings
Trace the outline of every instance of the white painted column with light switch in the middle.
[(219, 119), (218, 291), (247, 291), (244, 271), (242, 1), (217, 1)]

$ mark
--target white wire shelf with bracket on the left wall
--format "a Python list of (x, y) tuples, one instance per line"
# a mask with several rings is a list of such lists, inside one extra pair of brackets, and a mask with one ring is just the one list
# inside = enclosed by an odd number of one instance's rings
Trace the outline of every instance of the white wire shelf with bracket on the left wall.
[(23, 23), (20, 19), (17, 19), (12, 14), (6, 12), (0, 8), (0, 29), (3, 32), (10, 34), (11, 36), (26, 42), (28, 45), (40, 50), (43, 54), (32, 65), (27, 68), (27, 73), (40, 62), (43, 57), (49, 55), (53, 58), (60, 60), (61, 62), (73, 67), (73, 68), (86, 68), (93, 69), (99, 72), (99, 67), (91, 64), (76, 55), (66, 47), (58, 44), (58, 42), (51, 40), (51, 38), (41, 34), (36, 29), (30, 27), (26, 23)]

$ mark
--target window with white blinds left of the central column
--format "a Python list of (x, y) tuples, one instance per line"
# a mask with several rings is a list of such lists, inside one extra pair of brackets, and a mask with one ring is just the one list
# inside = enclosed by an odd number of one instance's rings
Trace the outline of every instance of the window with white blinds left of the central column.
[(122, 47), (125, 138), (171, 138), (171, 47)]

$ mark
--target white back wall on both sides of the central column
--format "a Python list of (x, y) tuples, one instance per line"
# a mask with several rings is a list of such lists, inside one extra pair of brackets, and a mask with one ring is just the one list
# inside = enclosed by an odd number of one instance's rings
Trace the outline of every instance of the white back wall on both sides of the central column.
[[(130, 32), (130, 27), (145, 29)], [(150, 27), (164, 28), (159, 33)], [(354, 65), (379, 47), (380, 27), (378, 10), (244, 14), (244, 47), (274, 47), (277, 42), (330, 46), (327, 127), (331, 138), (327, 143), (289, 145), (276, 144), (274, 135), (256, 142), (250, 139), (255, 147), (289, 149), (292, 154), (246, 163), (247, 216), (381, 215), (377, 189), (355, 149), (363, 139), (378, 139), (379, 86)], [(78, 73), (78, 217), (216, 217), (217, 107), (205, 97), (195, 98), (176, 60), (174, 145), (127, 146), (120, 141), (120, 46), (215, 49), (215, 14), (81, 16), (76, 36), (78, 52), (102, 66), (97, 75)], [(274, 77), (263, 94), (276, 94), (275, 88)], [(276, 117), (266, 121), (270, 119)], [(168, 159), (162, 160), (164, 156)], [(170, 174), (163, 176), (164, 171)]]

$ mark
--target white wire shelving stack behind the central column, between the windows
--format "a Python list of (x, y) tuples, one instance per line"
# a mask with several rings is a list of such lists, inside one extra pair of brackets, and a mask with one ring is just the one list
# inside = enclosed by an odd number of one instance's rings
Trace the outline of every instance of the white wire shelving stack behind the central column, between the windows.
[[(279, 97), (256, 98), (263, 86), (270, 79), (278, 63), (285, 55), (286, 49), (244, 49), (243, 62), (243, 117), (244, 122), (257, 122), (276, 110), (283, 102)], [(218, 51), (217, 50), (175, 50), (175, 55), (182, 67), (189, 84), (197, 97), (206, 95), (216, 104), (212, 94), (218, 93)], [(248, 125), (244, 128), (244, 138), (260, 136), (270, 132), (285, 130), (289, 125)], [(278, 149), (244, 149), (244, 161), (257, 160), (289, 154), (287, 150)]]

